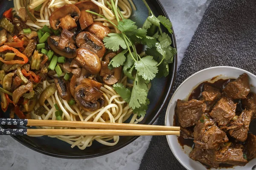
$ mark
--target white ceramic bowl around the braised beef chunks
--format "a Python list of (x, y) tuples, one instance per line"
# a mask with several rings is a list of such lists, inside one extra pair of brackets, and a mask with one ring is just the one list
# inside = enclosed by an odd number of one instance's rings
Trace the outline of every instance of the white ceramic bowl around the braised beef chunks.
[[(239, 75), (247, 73), (249, 76), (249, 81), (251, 86), (251, 91), (256, 92), (256, 76), (251, 74), (248, 71), (242, 70), (240, 68), (228, 67), (228, 66), (218, 66), (207, 68), (197, 73), (193, 74), (189, 78), (187, 78), (181, 85), (177, 88), (175, 93), (170, 100), (166, 111), (165, 125), (172, 126), (173, 125), (173, 116), (175, 113), (175, 106), (177, 99), (186, 99), (187, 96), (191, 93), (192, 89), (194, 89), (201, 82), (209, 81), (212, 77), (218, 76), (218, 78), (214, 79), (215, 82), (218, 79), (227, 79), (227, 78), (238, 78)], [(199, 161), (194, 161), (189, 158), (189, 153), (192, 150), (191, 147), (187, 147), (184, 145), (184, 150), (180, 146), (177, 140), (177, 136), (169, 135), (166, 136), (169, 147), (172, 150), (172, 153), (175, 155), (178, 161), (186, 167), (188, 170), (207, 170)], [(250, 160), (244, 167), (234, 166), (232, 168), (224, 168), (225, 170), (251, 170), (251, 168), (256, 164), (256, 159)], [(212, 170), (215, 170), (212, 168)]]

